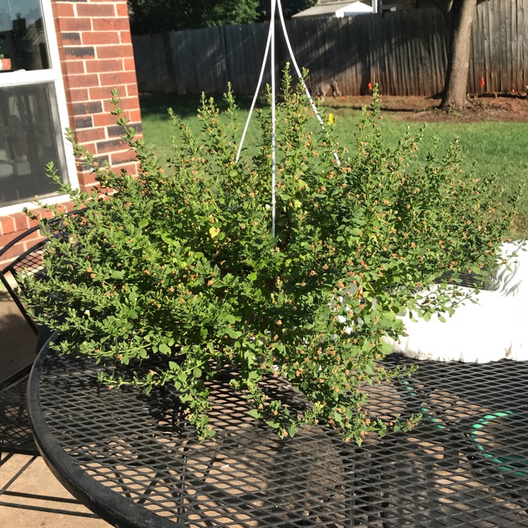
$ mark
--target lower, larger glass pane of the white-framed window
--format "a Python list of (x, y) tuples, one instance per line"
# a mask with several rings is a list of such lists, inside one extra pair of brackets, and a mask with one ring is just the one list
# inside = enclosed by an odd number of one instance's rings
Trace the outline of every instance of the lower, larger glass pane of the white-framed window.
[(54, 194), (56, 184), (46, 176), (46, 163), (65, 167), (56, 123), (52, 83), (0, 87), (0, 206)]

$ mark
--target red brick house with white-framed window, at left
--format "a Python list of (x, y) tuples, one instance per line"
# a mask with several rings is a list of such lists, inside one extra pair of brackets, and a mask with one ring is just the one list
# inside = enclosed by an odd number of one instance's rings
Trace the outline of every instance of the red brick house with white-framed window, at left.
[(126, 0), (0, 0), (0, 54), (11, 59), (0, 71), (1, 248), (30, 226), (22, 211), (35, 195), (66, 201), (46, 163), (74, 186), (94, 184), (75, 163), (66, 127), (99, 161), (135, 172), (109, 113), (111, 89), (139, 130), (141, 115)]

